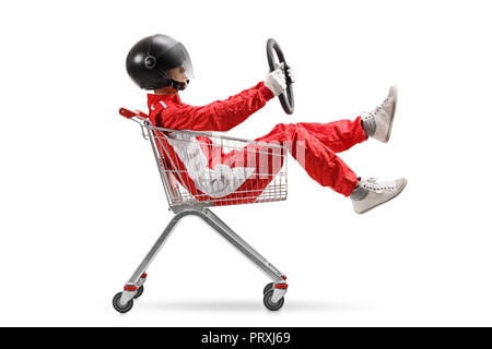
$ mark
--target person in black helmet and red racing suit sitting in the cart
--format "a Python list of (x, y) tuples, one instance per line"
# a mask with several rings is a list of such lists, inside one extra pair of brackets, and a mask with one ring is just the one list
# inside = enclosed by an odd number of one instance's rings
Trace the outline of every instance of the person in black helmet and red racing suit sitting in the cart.
[[(183, 44), (174, 38), (157, 34), (137, 43), (127, 57), (127, 71), (130, 77), (144, 89), (153, 89), (148, 95), (151, 122), (160, 128), (191, 131), (229, 131), (245, 121), (255, 111), (262, 108), (268, 100), (280, 95), (286, 87), (285, 73), (278, 69), (269, 73), (265, 82), (206, 106), (195, 107), (181, 103), (179, 91), (185, 89), (194, 77), (192, 64)], [(292, 79), (292, 70), (286, 73)], [(358, 177), (337, 155), (361, 143), (368, 137), (388, 142), (391, 133), (397, 104), (396, 86), (391, 87), (388, 97), (373, 111), (366, 112), (355, 120), (339, 120), (328, 123), (290, 123), (277, 124), (268, 134), (256, 141), (265, 143), (289, 144), (291, 155), (300, 161), (306, 172), (323, 186), (351, 198), (355, 213), (365, 213), (396, 197), (406, 186), (403, 178), (394, 181), (378, 181), (374, 178)], [(218, 166), (207, 166), (207, 157), (199, 147), (187, 148), (190, 140), (169, 137), (171, 147), (179, 166), (187, 172), (187, 183), (181, 183), (194, 194), (206, 197), (234, 198), (242, 188), (255, 188), (258, 194), (269, 181), (257, 178), (235, 180), (237, 160), (231, 157)], [(296, 149), (304, 149), (300, 158)], [(189, 155), (191, 154), (191, 156)], [(239, 155), (242, 156), (242, 155)], [(256, 165), (257, 166), (257, 165)], [(269, 168), (274, 174), (279, 168)], [(219, 172), (219, 176), (218, 176)], [(227, 173), (234, 180), (220, 181), (218, 178)], [(244, 171), (242, 172), (244, 174)], [(200, 179), (207, 178), (207, 181)], [(271, 179), (270, 179), (271, 180)], [(231, 184), (233, 183), (233, 184)]]

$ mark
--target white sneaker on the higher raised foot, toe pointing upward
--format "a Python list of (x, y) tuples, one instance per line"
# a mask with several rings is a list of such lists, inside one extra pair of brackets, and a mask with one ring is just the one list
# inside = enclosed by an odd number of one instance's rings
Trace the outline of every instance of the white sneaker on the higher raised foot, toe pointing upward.
[(397, 99), (397, 87), (391, 86), (391, 88), (389, 88), (388, 97), (386, 97), (376, 109), (362, 117), (363, 120), (373, 119), (375, 121), (376, 130), (372, 135), (375, 140), (384, 143), (389, 141), (396, 113)]

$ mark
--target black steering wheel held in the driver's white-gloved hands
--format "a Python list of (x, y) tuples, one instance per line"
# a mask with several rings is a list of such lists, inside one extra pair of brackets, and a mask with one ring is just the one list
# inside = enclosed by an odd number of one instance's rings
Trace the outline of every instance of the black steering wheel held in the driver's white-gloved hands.
[(267, 41), (267, 58), (268, 65), (270, 67), (270, 72), (280, 68), (285, 74), (286, 88), (279, 95), (279, 99), (285, 113), (291, 115), (294, 112), (294, 92), (292, 89), (292, 80), (286, 73), (289, 65), (285, 62), (285, 57), (283, 57), (283, 52), (280, 49), (279, 43), (277, 43), (272, 38), (268, 39)]

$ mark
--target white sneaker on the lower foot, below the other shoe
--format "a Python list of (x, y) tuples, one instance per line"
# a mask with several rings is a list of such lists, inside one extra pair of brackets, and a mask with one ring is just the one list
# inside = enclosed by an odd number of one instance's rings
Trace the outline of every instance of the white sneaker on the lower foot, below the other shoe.
[(353, 209), (358, 214), (366, 213), (398, 196), (405, 189), (405, 185), (407, 185), (405, 178), (387, 182), (378, 181), (375, 178), (361, 179), (359, 186), (354, 190), (354, 192), (359, 192), (356, 195), (351, 195)]

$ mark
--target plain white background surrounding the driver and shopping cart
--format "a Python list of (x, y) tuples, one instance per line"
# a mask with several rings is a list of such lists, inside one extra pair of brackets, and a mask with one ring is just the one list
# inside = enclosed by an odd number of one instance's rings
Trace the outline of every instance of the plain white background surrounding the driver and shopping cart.
[[(488, 1), (15, 1), (0, 21), (0, 325), (492, 325)], [(391, 140), (342, 158), (360, 176), (409, 184), (358, 216), (289, 164), (286, 202), (215, 209), (289, 276), (268, 279), (197, 219), (175, 230), (145, 293), (120, 315), (114, 293), (172, 213), (125, 58), (140, 38), (183, 41), (202, 105), (267, 73), (276, 38), (295, 69), (296, 110), (277, 100), (231, 132), (353, 118), (397, 83)]]

